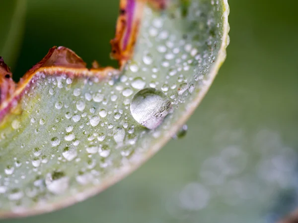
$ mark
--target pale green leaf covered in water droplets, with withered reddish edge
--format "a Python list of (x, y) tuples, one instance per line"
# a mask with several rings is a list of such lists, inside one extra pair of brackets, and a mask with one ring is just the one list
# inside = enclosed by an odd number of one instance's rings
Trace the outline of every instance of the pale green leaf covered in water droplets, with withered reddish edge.
[(223, 63), (227, 15), (226, 0), (121, 0), (111, 41), (120, 70), (87, 69), (54, 47), (15, 85), (2, 62), (1, 216), (86, 199), (156, 153)]

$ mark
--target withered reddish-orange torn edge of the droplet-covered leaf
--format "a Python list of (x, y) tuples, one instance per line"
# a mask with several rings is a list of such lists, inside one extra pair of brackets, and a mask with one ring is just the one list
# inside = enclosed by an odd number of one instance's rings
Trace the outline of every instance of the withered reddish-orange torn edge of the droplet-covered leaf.
[(23, 92), (30, 88), (38, 72), (47, 75), (66, 74), (70, 77), (96, 76), (100, 80), (121, 73), (124, 65), (134, 55), (146, 3), (156, 9), (164, 9), (167, 0), (120, 0), (116, 34), (115, 38), (110, 41), (111, 57), (118, 60), (119, 69), (110, 66), (99, 67), (96, 61), (93, 67), (88, 69), (82, 58), (72, 50), (66, 47), (53, 47), (40, 62), (25, 73), (18, 83), (15, 83), (9, 67), (0, 57), (0, 125), (5, 122), (6, 114), (16, 110)]

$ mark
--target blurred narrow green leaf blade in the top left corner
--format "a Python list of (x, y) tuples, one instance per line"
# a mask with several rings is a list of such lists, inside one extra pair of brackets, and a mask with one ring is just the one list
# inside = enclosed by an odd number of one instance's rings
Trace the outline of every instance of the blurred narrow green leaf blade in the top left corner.
[[(13, 64), (23, 33), (26, 0), (1, 2), (0, 7), (0, 55), (8, 64)], [(5, 21), (5, 22), (3, 22)]]

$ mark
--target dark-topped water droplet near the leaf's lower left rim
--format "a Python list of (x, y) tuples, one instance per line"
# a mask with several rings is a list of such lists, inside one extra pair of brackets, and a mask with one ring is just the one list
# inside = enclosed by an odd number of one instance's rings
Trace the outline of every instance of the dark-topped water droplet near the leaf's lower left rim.
[(45, 184), (53, 194), (63, 194), (69, 188), (69, 177), (64, 172), (47, 173)]

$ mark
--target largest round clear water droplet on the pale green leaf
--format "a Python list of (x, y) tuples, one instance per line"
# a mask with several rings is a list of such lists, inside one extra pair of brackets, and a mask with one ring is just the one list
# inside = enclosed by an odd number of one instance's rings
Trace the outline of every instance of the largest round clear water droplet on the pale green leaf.
[(130, 109), (137, 122), (154, 129), (161, 124), (171, 107), (170, 100), (162, 91), (145, 88), (135, 94)]

